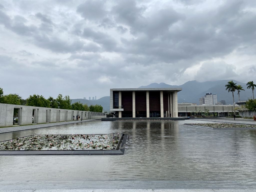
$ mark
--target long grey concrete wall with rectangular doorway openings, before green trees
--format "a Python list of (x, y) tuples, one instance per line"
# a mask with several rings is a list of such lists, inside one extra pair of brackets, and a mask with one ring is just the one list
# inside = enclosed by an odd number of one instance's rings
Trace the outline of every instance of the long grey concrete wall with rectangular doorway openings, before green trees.
[[(62, 121), (72, 121), (73, 115), (79, 114), (84, 119), (92, 119), (93, 116), (102, 116), (104, 113), (90, 112), (90, 111), (76, 111), (68, 109), (54, 109), (45, 107), (34, 107), (26, 105), (12, 105), (0, 103), (0, 127), (7, 127), (13, 125), (14, 108), (18, 108), (18, 124), (29, 125), (32, 124), (32, 116), (34, 110), (34, 123), (54, 123)], [(47, 114), (47, 116), (46, 116)]]

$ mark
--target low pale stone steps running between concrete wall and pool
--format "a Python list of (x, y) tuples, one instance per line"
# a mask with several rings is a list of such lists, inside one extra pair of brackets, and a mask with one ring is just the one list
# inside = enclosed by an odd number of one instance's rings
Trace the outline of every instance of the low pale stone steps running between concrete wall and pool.
[(57, 125), (66, 125), (66, 124), (72, 124), (72, 123), (83, 123), (87, 121), (95, 121), (95, 119), (86, 119), (83, 121), (65, 121), (65, 122), (57, 122), (57, 123), (44, 123), (44, 124), (38, 124), (38, 125), (25, 125), (25, 126), (13, 126), (13, 127), (4, 127), (0, 128), (0, 133), (6, 133), (6, 132), (12, 132), (12, 131), (22, 131), (27, 129), (37, 129), (42, 127), (51, 127), (51, 126), (57, 126)]

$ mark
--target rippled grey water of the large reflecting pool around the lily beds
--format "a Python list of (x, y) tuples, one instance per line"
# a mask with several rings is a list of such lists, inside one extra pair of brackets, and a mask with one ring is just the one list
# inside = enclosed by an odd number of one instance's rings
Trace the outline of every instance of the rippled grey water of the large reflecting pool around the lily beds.
[(256, 187), (256, 130), (184, 125), (189, 122), (91, 121), (0, 134), (0, 141), (33, 134), (128, 134), (124, 155), (0, 156), (0, 188)]

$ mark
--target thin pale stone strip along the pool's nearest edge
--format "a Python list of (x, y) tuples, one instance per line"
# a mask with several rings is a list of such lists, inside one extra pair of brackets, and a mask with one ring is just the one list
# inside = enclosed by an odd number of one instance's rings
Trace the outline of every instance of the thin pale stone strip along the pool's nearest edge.
[[(1, 186), (0, 186), (1, 187)], [(0, 192), (255, 192), (255, 189), (11, 189)]]

